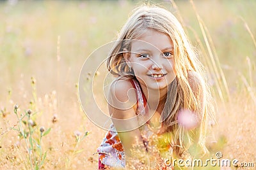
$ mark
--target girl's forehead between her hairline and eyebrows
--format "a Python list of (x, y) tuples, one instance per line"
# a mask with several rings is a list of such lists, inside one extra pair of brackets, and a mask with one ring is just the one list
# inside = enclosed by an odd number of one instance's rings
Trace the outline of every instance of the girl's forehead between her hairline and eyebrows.
[(140, 50), (143, 48), (163, 50), (166, 48), (173, 48), (173, 42), (168, 34), (155, 31), (154, 29), (147, 29), (131, 43), (132, 50)]

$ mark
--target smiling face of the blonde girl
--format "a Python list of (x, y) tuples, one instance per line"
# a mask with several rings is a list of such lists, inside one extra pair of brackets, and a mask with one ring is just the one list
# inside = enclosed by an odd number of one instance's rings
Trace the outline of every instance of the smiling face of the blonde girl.
[(173, 42), (163, 32), (147, 29), (131, 43), (131, 53), (127, 60), (142, 86), (161, 90), (176, 76)]

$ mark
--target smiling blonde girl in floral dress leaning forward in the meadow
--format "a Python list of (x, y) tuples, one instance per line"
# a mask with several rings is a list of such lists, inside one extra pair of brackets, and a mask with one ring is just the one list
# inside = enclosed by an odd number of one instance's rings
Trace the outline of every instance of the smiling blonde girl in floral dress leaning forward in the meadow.
[(113, 125), (98, 148), (99, 169), (147, 165), (148, 155), (164, 169), (152, 142), (163, 137), (167, 145), (157, 145), (157, 153), (168, 148), (184, 158), (191, 141), (207, 153), (211, 97), (196, 53), (172, 13), (156, 6), (137, 8), (120, 31), (107, 66), (116, 76), (109, 90)]

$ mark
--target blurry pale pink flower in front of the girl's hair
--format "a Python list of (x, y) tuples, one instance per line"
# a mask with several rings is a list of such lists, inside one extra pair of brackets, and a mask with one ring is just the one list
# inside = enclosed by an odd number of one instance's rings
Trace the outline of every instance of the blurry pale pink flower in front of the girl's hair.
[(178, 124), (191, 130), (199, 125), (199, 118), (196, 113), (190, 110), (180, 110), (178, 113)]

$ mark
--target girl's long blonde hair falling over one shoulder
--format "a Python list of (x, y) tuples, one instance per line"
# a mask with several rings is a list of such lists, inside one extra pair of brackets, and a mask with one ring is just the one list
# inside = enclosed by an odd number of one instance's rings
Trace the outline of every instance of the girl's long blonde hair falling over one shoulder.
[[(131, 40), (140, 38), (147, 29), (154, 29), (170, 36), (174, 45), (175, 69), (177, 76), (168, 86), (168, 95), (163, 109), (164, 120), (162, 124), (166, 127), (166, 132), (176, 131), (175, 150), (181, 155), (182, 148), (186, 148), (184, 136), (191, 136), (184, 132), (184, 129), (177, 124), (177, 114), (181, 109), (188, 109), (198, 113), (200, 116), (200, 129), (198, 131), (198, 145), (207, 152), (205, 147), (205, 133), (207, 127), (207, 118), (212, 117), (212, 107), (209, 105), (211, 95), (209, 88), (205, 83), (204, 71), (202, 65), (197, 59), (193, 46), (180, 22), (168, 10), (157, 6), (140, 6), (135, 9), (133, 15), (127, 20), (124, 27), (118, 35), (118, 39), (109, 53), (107, 61), (108, 70), (114, 75), (126, 78), (134, 78), (132, 71), (127, 66), (123, 53), (124, 49), (131, 48)], [(196, 74), (189, 74), (189, 71)], [(198, 96), (191, 89), (191, 83), (194, 89), (202, 91), (204, 96), (198, 99)], [(202, 106), (202, 104), (203, 106)], [(174, 146), (174, 145), (173, 145)]]

